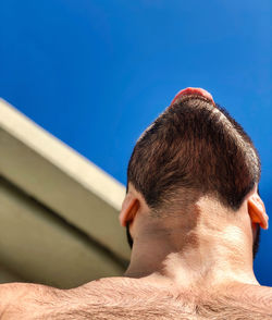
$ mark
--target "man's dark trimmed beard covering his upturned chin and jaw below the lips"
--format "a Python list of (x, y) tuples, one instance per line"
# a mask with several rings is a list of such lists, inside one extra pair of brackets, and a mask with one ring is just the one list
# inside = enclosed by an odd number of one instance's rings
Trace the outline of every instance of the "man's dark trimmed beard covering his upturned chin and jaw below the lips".
[(260, 160), (249, 136), (207, 97), (185, 95), (138, 139), (127, 182), (151, 210), (187, 206), (209, 195), (237, 210), (260, 179)]

